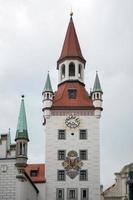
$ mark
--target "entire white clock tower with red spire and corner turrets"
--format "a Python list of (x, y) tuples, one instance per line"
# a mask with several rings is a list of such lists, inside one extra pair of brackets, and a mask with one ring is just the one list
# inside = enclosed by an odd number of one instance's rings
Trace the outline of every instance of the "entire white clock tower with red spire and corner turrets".
[(58, 89), (48, 74), (43, 90), (46, 200), (100, 200), (99, 122), (102, 89), (98, 73), (86, 90), (84, 59), (72, 14), (57, 61)]

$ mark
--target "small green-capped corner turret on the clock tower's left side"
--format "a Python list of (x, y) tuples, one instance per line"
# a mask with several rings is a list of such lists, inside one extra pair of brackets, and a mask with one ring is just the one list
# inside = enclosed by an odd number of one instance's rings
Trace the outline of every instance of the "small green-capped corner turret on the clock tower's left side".
[(42, 110), (44, 112), (44, 117), (47, 118), (50, 116), (50, 109), (52, 106), (52, 101), (53, 101), (53, 96), (54, 96), (49, 72), (47, 74), (47, 79), (46, 79), (46, 83), (45, 83), (42, 95), (43, 95), (43, 109)]

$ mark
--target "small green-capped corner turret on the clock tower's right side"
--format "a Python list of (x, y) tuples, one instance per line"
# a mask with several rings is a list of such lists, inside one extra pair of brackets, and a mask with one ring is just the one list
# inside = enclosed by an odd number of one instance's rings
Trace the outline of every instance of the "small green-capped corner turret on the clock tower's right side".
[(103, 92), (101, 89), (98, 72), (96, 72), (96, 78), (95, 78), (94, 87), (93, 87), (93, 91), (92, 91), (91, 95), (92, 95), (93, 104), (95, 106), (95, 115), (100, 117), (101, 111), (103, 110), (103, 108), (102, 108)]

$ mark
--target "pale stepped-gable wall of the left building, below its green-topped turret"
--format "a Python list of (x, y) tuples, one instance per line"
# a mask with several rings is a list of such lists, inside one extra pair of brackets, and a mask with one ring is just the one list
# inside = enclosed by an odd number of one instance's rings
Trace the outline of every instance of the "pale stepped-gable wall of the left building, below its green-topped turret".
[(9, 150), (7, 154), (7, 140), (1, 140), (0, 200), (45, 200), (42, 198), (44, 195), (43, 190), (41, 190), (41, 198), (39, 199), (35, 188), (24, 174), (24, 181), (16, 178), (18, 175), (18, 170), (15, 166), (15, 163), (15, 150)]

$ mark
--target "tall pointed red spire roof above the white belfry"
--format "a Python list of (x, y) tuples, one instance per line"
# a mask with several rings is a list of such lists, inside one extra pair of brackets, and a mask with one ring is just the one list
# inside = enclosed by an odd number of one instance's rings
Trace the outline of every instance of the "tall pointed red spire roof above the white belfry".
[(57, 65), (59, 64), (61, 60), (65, 58), (76, 58), (76, 59), (80, 59), (84, 63), (86, 62), (80, 49), (80, 45), (79, 45), (79, 41), (76, 34), (72, 16), (73, 16), (73, 12), (70, 13), (70, 22), (69, 22), (68, 29), (66, 32), (66, 37), (64, 40), (62, 52), (61, 52), (59, 60), (57, 61)]

